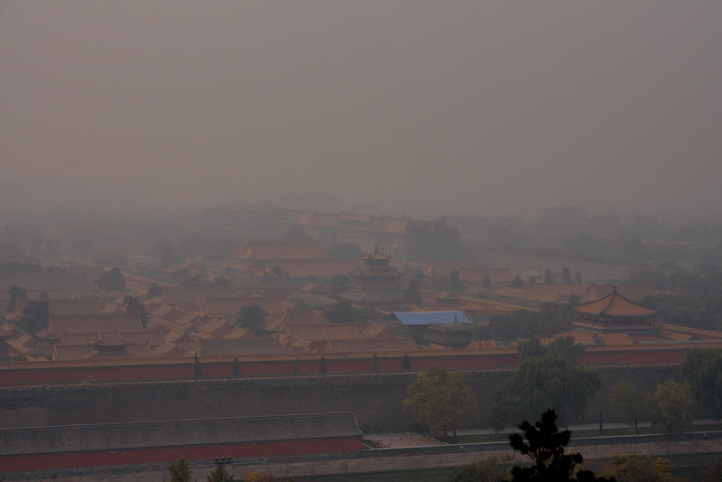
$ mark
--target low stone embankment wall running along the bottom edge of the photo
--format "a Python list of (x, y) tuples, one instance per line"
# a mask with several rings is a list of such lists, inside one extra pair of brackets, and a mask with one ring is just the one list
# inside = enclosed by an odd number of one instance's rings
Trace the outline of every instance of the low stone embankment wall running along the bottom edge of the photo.
[[(569, 450), (578, 451), (585, 461), (608, 460), (613, 454), (637, 454), (650, 457), (697, 456), (722, 453), (722, 432), (686, 435), (643, 435), (636, 437), (603, 437), (572, 440)], [(234, 477), (245, 477), (246, 471), (270, 472), (276, 477), (312, 477), (334, 474), (360, 474), (400, 470), (454, 468), (479, 459), (510, 453), (507, 442), (414, 447), (404, 449), (364, 450), (362, 452), (319, 454), (273, 459), (245, 459), (227, 466)], [(517, 455), (515, 463), (528, 463)], [(208, 462), (190, 465), (202, 480), (214, 468)], [(168, 480), (162, 464), (116, 468), (66, 469), (30, 474), (5, 474), (3, 480), (26, 482), (161, 482)]]

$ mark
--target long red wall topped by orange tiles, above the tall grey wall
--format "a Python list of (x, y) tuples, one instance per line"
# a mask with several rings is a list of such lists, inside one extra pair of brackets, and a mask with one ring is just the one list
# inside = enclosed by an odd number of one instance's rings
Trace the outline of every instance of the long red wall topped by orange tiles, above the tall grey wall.
[[(579, 362), (582, 365), (678, 365), (684, 362), (689, 349), (625, 349), (600, 350), (588, 349)], [(263, 357), (253, 361), (240, 362), (241, 375), (292, 375), (318, 374), (319, 358), (293, 360), (264, 360)], [(401, 369), (402, 356), (379, 357), (380, 371), (398, 371)], [(202, 360), (202, 359), (201, 359)], [(178, 380), (193, 377), (193, 363), (153, 363), (143, 365), (142, 360), (128, 360), (125, 364), (103, 366), (62, 366), (63, 362), (37, 362), (37, 368), (23, 367), (13, 369), (4, 367), (0, 369), (0, 386), (29, 386), (29, 385), (66, 385), (79, 384), (86, 380), (93, 382), (122, 382), (122, 381), (158, 381)], [(28, 366), (35, 362), (17, 362), (17, 366)], [(511, 350), (498, 350), (485, 354), (449, 354), (425, 355), (412, 354), (413, 370), (423, 370), (429, 366), (440, 365), (447, 369), (498, 369), (514, 367), (517, 364), (516, 352)], [(55, 366), (53, 366), (55, 365)], [(69, 365), (69, 364), (65, 364)], [(325, 359), (327, 373), (367, 373), (372, 371), (371, 357), (334, 358)], [(206, 361), (202, 363), (203, 375), (207, 377), (226, 377), (232, 375), (232, 361)], [(294, 370), (298, 372), (294, 372)]]

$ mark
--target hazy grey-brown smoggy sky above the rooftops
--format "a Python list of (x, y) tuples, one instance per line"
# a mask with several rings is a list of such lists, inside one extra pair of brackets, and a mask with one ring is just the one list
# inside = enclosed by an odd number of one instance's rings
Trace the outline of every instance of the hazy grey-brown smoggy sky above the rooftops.
[(2, 0), (0, 176), (719, 217), (720, 88), (719, 0)]

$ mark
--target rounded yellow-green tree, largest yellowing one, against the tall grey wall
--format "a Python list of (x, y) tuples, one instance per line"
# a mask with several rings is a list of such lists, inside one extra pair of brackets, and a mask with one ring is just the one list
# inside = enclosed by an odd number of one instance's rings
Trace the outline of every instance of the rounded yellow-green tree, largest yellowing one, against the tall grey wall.
[(429, 431), (443, 431), (448, 437), (451, 430), (454, 439), (467, 421), (477, 418), (477, 399), (468, 375), (449, 373), (441, 366), (431, 366), (416, 377), (406, 389), (403, 408)]

